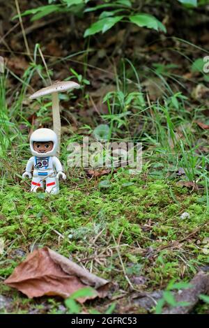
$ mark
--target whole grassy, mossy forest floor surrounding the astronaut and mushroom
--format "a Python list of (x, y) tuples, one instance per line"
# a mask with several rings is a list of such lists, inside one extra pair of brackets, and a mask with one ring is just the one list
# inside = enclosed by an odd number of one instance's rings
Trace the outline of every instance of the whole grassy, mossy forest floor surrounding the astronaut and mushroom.
[[(20, 1), (22, 11), (28, 2)], [(86, 302), (83, 313), (155, 313), (163, 297), (171, 305), (162, 292), (209, 265), (207, 24), (201, 13), (190, 20), (177, 10), (169, 13), (167, 35), (122, 26), (86, 43), (88, 22), (79, 18), (75, 33), (68, 15), (38, 22), (24, 17), (29, 57), (8, 3), (0, 5), (6, 60), (0, 73), (1, 313), (72, 311), (61, 298), (29, 299), (3, 284), (42, 246), (110, 281), (107, 297)], [(70, 76), (82, 85), (61, 96), (61, 162), (68, 179), (56, 196), (29, 193), (30, 181), (22, 180), (29, 134), (52, 127), (51, 99), (29, 100), (49, 83), (38, 44), (53, 80)], [(100, 141), (102, 133), (109, 142), (142, 142), (140, 174), (127, 167), (68, 167), (68, 144), (83, 136)], [(209, 313), (209, 304), (200, 300), (192, 311)]]

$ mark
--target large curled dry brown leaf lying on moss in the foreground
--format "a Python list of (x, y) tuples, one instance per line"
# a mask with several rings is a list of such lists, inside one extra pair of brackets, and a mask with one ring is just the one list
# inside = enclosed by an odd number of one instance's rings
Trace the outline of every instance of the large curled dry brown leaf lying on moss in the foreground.
[(67, 298), (86, 286), (95, 288), (95, 294), (78, 299), (80, 303), (84, 303), (86, 299), (105, 297), (108, 290), (108, 281), (91, 274), (47, 247), (39, 248), (29, 254), (4, 283), (17, 288), (29, 298), (43, 295), (59, 295)]

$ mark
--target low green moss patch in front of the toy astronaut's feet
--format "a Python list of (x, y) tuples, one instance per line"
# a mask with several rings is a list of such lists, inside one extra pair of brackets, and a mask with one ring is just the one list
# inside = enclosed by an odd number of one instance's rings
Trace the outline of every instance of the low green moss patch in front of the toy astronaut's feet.
[[(108, 188), (100, 180), (78, 174), (61, 182), (56, 196), (29, 193), (27, 182), (1, 180), (1, 281), (29, 251), (49, 246), (111, 281), (109, 297), (86, 304), (86, 311), (105, 312), (115, 299), (116, 312), (143, 313), (127, 301), (133, 292), (129, 281), (134, 292), (163, 290), (208, 265), (208, 212), (201, 191), (143, 174), (130, 177), (122, 169), (109, 176)], [(181, 218), (184, 212), (189, 217)], [(125, 306), (117, 301), (123, 293)], [(2, 283), (0, 295), (12, 298), (6, 313), (65, 311), (61, 299), (30, 300)], [(203, 307), (199, 313), (208, 311)]]

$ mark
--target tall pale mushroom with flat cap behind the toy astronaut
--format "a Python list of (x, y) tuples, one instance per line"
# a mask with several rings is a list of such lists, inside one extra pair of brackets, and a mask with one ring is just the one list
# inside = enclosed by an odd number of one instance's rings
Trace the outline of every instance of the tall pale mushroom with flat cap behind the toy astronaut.
[(63, 82), (54, 82), (54, 84), (49, 87), (40, 89), (39, 91), (32, 94), (29, 98), (36, 99), (47, 94), (52, 94), (52, 116), (53, 116), (53, 130), (58, 137), (58, 150), (60, 151), (60, 142), (61, 142), (61, 119), (59, 111), (59, 92), (64, 92), (72, 89), (79, 89), (80, 85), (72, 81), (63, 81)]

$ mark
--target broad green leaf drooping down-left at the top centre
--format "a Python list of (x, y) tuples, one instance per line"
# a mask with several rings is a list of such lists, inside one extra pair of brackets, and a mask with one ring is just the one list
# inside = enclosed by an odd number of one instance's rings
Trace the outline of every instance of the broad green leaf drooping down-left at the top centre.
[(124, 16), (116, 16), (116, 17), (106, 17), (102, 20), (98, 20), (97, 22), (93, 23), (91, 27), (86, 29), (84, 33), (84, 38), (86, 36), (92, 36), (98, 32), (106, 32), (107, 30), (111, 29), (117, 22), (123, 19)]

